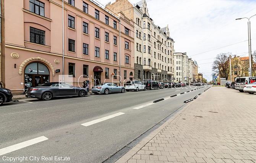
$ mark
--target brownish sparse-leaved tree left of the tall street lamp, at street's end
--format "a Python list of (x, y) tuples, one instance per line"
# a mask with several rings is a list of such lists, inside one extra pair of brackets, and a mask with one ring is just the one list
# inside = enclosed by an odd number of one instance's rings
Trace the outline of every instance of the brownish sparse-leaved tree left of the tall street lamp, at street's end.
[(228, 79), (228, 75), (230, 73), (230, 66), (229, 66), (229, 57), (231, 56), (231, 53), (220, 53), (218, 54), (214, 62), (212, 63), (212, 71), (214, 71), (215, 74), (219, 74), (220, 78), (226, 78)]

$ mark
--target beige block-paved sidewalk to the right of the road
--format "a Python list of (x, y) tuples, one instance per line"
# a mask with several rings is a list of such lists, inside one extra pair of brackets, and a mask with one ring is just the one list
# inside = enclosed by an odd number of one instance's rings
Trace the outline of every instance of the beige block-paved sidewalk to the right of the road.
[(256, 95), (211, 87), (116, 163), (256, 163), (255, 106)]

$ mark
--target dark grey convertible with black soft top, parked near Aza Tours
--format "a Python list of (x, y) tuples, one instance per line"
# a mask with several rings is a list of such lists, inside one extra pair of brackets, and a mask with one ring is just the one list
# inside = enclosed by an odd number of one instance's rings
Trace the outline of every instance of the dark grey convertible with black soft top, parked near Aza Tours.
[(74, 87), (65, 82), (47, 82), (37, 87), (29, 87), (26, 97), (51, 100), (53, 97), (79, 96), (84, 97), (88, 92), (84, 88)]

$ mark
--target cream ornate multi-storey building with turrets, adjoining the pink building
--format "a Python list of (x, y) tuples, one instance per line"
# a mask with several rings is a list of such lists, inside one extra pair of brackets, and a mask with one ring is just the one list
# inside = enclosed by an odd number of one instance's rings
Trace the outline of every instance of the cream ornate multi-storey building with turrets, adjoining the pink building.
[(134, 79), (171, 81), (174, 74), (174, 41), (169, 27), (160, 28), (149, 16), (146, 0), (132, 5), (128, 0), (116, 0), (106, 5), (110, 13), (122, 11), (134, 21)]

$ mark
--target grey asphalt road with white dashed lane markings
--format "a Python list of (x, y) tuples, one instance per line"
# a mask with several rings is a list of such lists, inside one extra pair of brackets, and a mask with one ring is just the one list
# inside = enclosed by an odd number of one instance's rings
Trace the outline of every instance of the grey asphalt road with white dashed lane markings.
[[(37, 162), (37, 157), (38, 162), (59, 162), (54, 160), (55, 156), (70, 157), (70, 161), (60, 162), (103, 162), (207, 88), (191, 86), (5, 103), (0, 107), (0, 162), (23, 156), (28, 157), (25, 162)], [(180, 95), (181, 92), (186, 93)], [(173, 94), (178, 96), (170, 98)], [(160, 98), (165, 100), (151, 104)], [(139, 108), (142, 105), (148, 106)], [(117, 113), (118, 116), (109, 117)], [(110, 119), (93, 124), (94, 120), (106, 117)], [(81, 125), (88, 122), (91, 125)], [(42, 136), (47, 140), (21, 148), (29, 144), (25, 141)], [(19, 144), (22, 142), (25, 143)], [(3, 148), (16, 144), (20, 149), (3, 152)], [(29, 161), (29, 157), (33, 160)], [(44, 157), (53, 157), (53, 161)]]

